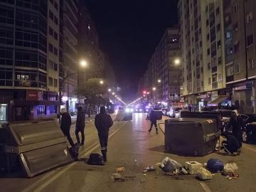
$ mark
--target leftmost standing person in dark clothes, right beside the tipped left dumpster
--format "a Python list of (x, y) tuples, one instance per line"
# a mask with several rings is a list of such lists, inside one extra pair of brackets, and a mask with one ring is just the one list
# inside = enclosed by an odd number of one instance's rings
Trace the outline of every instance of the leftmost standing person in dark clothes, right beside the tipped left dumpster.
[(70, 142), (71, 146), (74, 146), (74, 142), (70, 136), (70, 126), (71, 126), (71, 117), (68, 114), (67, 109), (63, 108), (60, 111), (61, 120), (60, 120), (60, 129), (63, 131), (65, 137), (68, 137), (68, 142)]

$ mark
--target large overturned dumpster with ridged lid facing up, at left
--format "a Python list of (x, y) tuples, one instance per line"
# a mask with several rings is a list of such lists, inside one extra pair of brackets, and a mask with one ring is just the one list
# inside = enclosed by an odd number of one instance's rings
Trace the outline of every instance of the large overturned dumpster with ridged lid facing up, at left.
[(66, 139), (54, 120), (8, 124), (1, 128), (1, 156), (4, 168), (22, 168), (26, 176), (73, 162)]

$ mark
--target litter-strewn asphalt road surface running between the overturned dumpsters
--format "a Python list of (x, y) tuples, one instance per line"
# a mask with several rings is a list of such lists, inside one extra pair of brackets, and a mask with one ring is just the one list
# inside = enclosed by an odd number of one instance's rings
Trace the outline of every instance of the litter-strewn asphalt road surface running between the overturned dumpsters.
[[(85, 146), (80, 149), (81, 161), (35, 178), (0, 178), (0, 191), (256, 191), (255, 146), (244, 144), (240, 156), (166, 154), (164, 134), (156, 134), (154, 129), (149, 134), (149, 121), (145, 118), (145, 114), (134, 114), (131, 122), (114, 122), (105, 166), (89, 166), (83, 161), (92, 152), (100, 153), (97, 132), (90, 122), (85, 129)], [(210, 181), (198, 181), (195, 176), (166, 176), (160, 170), (142, 173), (144, 166), (154, 166), (165, 156), (181, 164), (185, 161), (206, 163), (210, 158), (220, 159), (224, 163), (235, 161), (239, 166), (240, 178), (229, 181), (225, 176), (215, 174)], [(120, 174), (127, 181), (114, 182), (111, 176), (120, 166), (125, 168)]]

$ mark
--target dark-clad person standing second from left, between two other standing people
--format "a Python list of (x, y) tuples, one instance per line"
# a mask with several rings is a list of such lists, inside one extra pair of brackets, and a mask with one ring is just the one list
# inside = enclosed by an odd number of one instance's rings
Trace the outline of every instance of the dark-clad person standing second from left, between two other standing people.
[[(80, 143), (79, 132), (82, 136), (82, 142)], [(82, 107), (78, 107), (77, 122), (75, 125), (75, 137), (78, 140), (80, 146), (85, 144), (85, 113), (82, 112)]]

